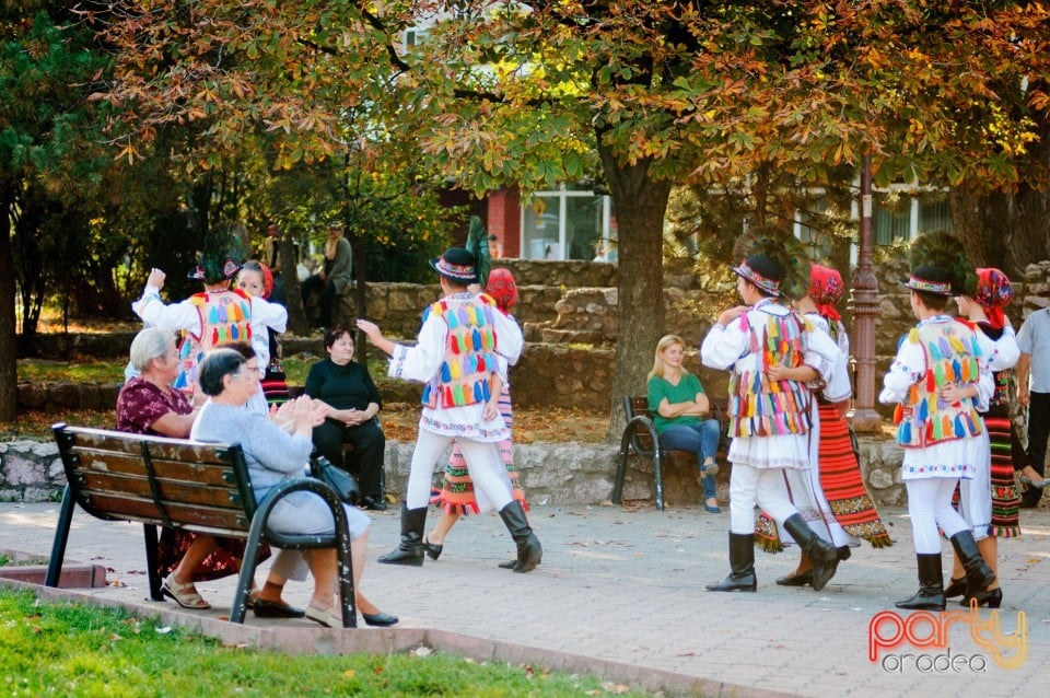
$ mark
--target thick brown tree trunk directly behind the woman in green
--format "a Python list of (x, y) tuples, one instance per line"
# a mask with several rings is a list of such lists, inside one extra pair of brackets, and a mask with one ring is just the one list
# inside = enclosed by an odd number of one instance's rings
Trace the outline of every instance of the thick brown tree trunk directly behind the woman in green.
[[(599, 138), (600, 142), (600, 138)], [(598, 147), (619, 229), (619, 329), (606, 439), (618, 443), (625, 395), (643, 395), (656, 341), (664, 334), (663, 230), (670, 183), (654, 182), (650, 161), (623, 165)]]

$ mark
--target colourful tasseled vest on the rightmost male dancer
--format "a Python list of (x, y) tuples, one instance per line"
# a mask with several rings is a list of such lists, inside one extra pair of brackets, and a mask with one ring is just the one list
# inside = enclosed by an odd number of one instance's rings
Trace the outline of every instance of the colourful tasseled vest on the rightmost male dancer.
[(941, 389), (950, 383), (971, 385), (978, 381), (977, 357), (981, 356), (981, 347), (973, 333), (972, 327), (960, 322), (920, 325), (908, 333), (906, 341), (922, 347), (926, 370), (894, 411), (897, 443), (906, 449), (922, 449), (976, 437), (984, 430), (972, 398), (952, 405), (940, 398)]

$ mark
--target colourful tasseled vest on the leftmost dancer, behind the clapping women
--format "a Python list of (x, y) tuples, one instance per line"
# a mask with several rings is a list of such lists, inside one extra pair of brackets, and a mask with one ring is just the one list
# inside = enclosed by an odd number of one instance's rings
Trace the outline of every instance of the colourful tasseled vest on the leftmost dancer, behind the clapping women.
[(229, 341), (252, 341), (252, 299), (240, 289), (195, 293), (189, 302), (197, 309), (201, 336), (183, 333), (178, 350), (182, 364), (175, 387), (192, 393), (197, 387), (197, 364), (209, 349)]

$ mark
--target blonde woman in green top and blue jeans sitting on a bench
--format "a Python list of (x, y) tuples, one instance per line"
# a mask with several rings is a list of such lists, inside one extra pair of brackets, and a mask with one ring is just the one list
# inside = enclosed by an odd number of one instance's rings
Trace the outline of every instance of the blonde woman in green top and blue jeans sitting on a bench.
[(710, 418), (711, 404), (700, 379), (681, 365), (685, 351), (686, 344), (677, 335), (666, 335), (656, 344), (656, 358), (649, 372), (649, 411), (662, 447), (697, 454), (703, 508), (718, 514), (722, 512), (714, 489), (719, 421)]

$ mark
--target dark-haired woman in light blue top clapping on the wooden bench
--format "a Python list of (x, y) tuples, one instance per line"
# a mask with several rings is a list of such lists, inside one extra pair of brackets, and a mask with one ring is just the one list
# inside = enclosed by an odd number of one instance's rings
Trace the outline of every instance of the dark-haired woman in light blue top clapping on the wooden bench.
[[(280, 482), (304, 477), (304, 466), (313, 450), (311, 434), (324, 419), (325, 408), (306, 396), (285, 403), (279, 411), (291, 431), (285, 432), (266, 416), (245, 407), (259, 389), (259, 372), (248, 370), (246, 363), (243, 356), (231, 349), (215, 349), (205, 356), (197, 380), (211, 400), (201, 409), (190, 435), (199, 441), (240, 442), (252, 485), (261, 499)], [(346, 512), (352, 540), (350, 556), (357, 606), (366, 624), (394, 625), (395, 616), (382, 613), (358, 591), (371, 521), (352, 507), (346, 507)], [(330, 534), (335, 530), (331, 511), (313, 492), (293, 492), (282, 499), (273, 508), (269, 525), (280, 533), (300, 535)], [(335, 603), (335, 548), (308, 550), (306, 559), (314, 575), (314, 593), (306, 617), (329, 628), (341, 628), (342, 619)]]

